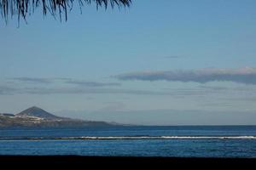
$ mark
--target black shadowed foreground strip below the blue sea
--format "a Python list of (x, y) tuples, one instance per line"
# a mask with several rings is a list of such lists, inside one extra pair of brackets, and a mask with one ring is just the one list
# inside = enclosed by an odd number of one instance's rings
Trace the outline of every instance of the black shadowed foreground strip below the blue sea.
[[(1, 166), (33, 167), (56, 165), (58, 167), (124, 167), (178, 166), (178, 167), (249, 167), (256, 158), (192, 158), (192, 157), (132, 157), (132, 156), (0, 156)], [(191, 168), (191, 167), (189, 167)]]

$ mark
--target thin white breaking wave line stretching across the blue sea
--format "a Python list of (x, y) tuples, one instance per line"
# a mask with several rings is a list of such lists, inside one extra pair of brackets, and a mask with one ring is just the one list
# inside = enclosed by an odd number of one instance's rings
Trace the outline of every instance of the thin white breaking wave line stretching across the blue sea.
[(256, 136), (80, 136), (80, 137), (0, 137), (0, 140), (118, 140), (118, 139), (256, 139)]

